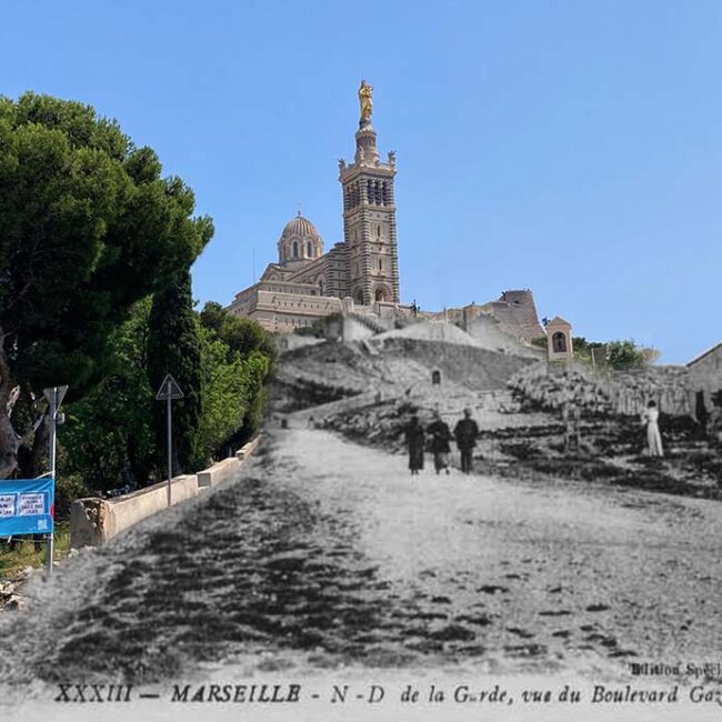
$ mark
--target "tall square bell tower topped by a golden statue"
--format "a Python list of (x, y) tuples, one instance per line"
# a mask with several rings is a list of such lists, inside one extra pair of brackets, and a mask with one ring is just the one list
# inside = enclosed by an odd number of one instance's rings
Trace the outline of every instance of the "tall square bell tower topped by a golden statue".
[(377, 132), (371, 126), (373, 89), (365, 80), (359, 88), (361, 119), (355, 133), (355, 156), (347, 166), (339, 161), (343, 188), (343, 242), (348, 259), (348, 294), (357, 303), (399, 302), (397, 207), (393, 179), (395, 154), (381, 162)]

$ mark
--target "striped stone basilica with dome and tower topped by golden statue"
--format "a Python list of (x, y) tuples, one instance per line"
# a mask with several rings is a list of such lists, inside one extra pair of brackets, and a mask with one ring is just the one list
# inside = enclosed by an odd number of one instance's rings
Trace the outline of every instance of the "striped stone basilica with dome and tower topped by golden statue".
[(357, 312), (378, 318), (407, 315), (399, 303), (393, 151), (380, 159), (371, 126), (371, 86), (361, 82), (361, 120), (355, 156), (339, 161), (343, 193), (343, 241), (327, 253), (313, 223), (300, 212), (278, 241), (278, 261), (229, 307), (269, 331), (288, 333), (325, 315)]

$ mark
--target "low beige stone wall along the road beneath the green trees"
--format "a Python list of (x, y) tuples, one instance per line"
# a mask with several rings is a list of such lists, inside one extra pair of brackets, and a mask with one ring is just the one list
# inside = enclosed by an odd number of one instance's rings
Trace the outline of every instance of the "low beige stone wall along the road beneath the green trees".
[[(234, 457), (223, 459), (198, 474), (172, 479), (171, 504), (192, 499), (203, 490), (232, 479), (258, 442), (257, 437)], [(70, 508), (70, 545), (73, 549), (97, 546), (163, 509), (168, 509), (168, 481), (114, 499), (78, 499)]]

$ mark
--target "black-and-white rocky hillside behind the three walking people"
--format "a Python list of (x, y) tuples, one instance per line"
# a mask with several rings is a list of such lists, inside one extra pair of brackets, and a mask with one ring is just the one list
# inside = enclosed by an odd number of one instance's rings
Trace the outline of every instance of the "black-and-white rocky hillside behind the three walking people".
[[(722, 498), (719, 444), (702, 438), (689, 418), (662, 415), (665, 458), (650, 459), (638, 417), (620, 414), (593, 377), (549, 375), (545, 364), (465, 343), (467, 334), (449, 328), (290, 351), (281, 363), (274, 412), (290, 413), (291, 423), (402, 452), (412, 414), (425, 425), (439, 411), (453, 428), (471, 408), (481, 429), (479, 471)], [(432, 383), (433, 372), (440, 373), (439, 384)], [(564, 399), (581, 409), (581, 444), (573, 451), (563, 444)]]

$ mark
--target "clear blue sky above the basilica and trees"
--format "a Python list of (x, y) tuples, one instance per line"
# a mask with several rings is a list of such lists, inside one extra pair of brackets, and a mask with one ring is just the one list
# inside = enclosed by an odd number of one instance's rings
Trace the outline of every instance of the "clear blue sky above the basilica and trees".
[(229, 303), (301, 203), (341, 240), (357, 87), (397, 151), (403, 301), (531, 288), (575, 335), (662, 361), (722, 338), (722, 3), (3, 2), (0, 93), (117, 118), (195, 191)]

